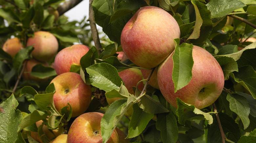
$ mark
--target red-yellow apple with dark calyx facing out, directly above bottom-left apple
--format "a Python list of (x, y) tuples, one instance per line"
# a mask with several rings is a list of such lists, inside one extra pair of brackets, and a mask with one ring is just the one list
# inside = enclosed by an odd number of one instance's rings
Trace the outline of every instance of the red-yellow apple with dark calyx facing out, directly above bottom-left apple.
[(91, 102), (92, 90), (90, 85), (84, 83), (80, 74), (65, 72), (53, 78), (51, 83), (56, 88), (53, 102), (59, 113), (68, 103), (72, 107), (72, 117), (77, 117), (87, 110)]

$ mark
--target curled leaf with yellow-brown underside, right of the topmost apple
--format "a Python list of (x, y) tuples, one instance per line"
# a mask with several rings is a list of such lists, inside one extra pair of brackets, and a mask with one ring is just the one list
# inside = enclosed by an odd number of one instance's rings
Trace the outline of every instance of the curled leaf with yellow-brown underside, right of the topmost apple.
[(210, 36), (213, 23), (210, 18), (210, 11), (204, 4), (197, 0), (192, 0), (196, 12), (196, 24), (193, 33), (188, 39), (191, 43), (200, 44)]

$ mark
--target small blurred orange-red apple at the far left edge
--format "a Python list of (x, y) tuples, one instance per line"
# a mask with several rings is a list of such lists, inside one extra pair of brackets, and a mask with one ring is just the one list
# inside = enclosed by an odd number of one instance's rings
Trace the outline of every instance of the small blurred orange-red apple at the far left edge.
[(17, 37), (14, 37), (12, 39), (8, 39), (4, 45), (3, 50), (10, 54), (11, 57), (14, 57), (17, 52), (23, 48), (23, 45), (21, 44), (20, 40)]

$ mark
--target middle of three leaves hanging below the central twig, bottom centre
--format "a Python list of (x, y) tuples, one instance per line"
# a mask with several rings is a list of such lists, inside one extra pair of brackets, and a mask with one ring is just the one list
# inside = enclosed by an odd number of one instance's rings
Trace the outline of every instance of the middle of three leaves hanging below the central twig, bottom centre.
[(133, 104), (133, 114), (129, 124), (127, 138), (140, 135), (153, 117), (154, 114), (146, 113), (139, 108), (138, 104)]

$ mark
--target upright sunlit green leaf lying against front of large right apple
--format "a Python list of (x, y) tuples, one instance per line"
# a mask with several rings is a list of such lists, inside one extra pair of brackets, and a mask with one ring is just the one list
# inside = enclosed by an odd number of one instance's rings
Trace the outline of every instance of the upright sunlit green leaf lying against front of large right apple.
[(182, 43), (176, 41), (176, 48), (172, 56), (173, 72), (172, 79), (174, 83), (174, 92), (185, 87), (192, 79), (192, 67), (194, 64), (192, 57), (192, 44)]

